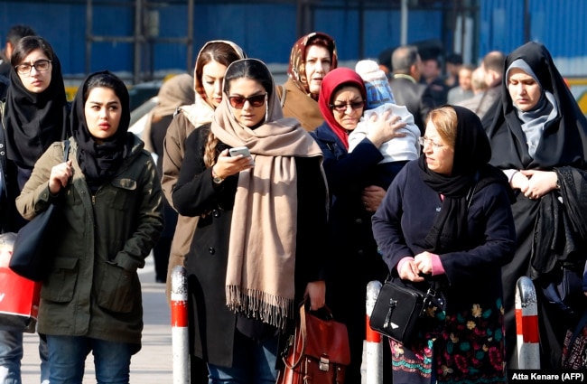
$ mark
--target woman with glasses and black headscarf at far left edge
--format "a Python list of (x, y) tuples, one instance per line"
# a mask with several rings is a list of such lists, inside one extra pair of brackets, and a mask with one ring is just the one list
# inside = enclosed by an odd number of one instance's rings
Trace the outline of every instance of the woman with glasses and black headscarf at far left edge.
[[(6, 230), (17, 231), (26, 220), (14, 207), (14, 199), (23, 189), (33, 166), (42, 153), (55, 141), (67, 136), (68, 104), (61, 76), (61, 63), (51, 44), (39, 36), (23, 37), (14, 46), (10, 59), (10, 86), (6, 94), (2, 126), (6, 148), (0, 156), (5, 163), (5, 202), (3, 219)], [(0, 129), (2, 128), (0, 126)], [(12, 357), (9, 376), (20, 379), (23, 334), (0, 330), (0, 341)], [(41, 380), (48, 379), (46, 344), (41, 340)], [(7, 367), (5, 364), (3, 368)], [(1, 381), (0, 377), (0, 381)]]

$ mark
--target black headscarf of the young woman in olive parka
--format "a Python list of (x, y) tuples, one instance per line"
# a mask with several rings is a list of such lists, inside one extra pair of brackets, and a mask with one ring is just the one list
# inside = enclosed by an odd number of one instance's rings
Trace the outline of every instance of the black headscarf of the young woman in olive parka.
[[(90, 135), (84, 110), (86, 94), (88, 93), (89, 80), (100, 75), (111, 77), (111, 80), (122, 83), (122, 80), (107, 70), (90, 74), (79, 86), (78, 93), (73, 99), (70, 116), (71, 134), (78, 143), (79, 167), (92, 192), (96, 192), (104, 181), (116, 173), (126, 154), (130, 152), (131, 141), (129, 137), (132, 137), (127, 135), (130, 124), (130, 104), (126, 87), (115, 89), (122, 108), (122, 116), (116, 133), (104, 140), (102, 144), (98, 144)], [(124, 85), (124, 83), (122, 84)]]

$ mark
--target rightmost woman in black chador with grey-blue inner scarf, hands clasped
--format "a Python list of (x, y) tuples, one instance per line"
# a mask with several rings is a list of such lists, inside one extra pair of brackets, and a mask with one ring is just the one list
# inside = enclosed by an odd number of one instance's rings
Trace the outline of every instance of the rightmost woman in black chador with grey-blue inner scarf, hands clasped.
[[(508, 365), (517, 366), (517, 279), (530, 276), (536, 283), (540, 308), (541, 368), (559, 368), (564, 332), (576, 319), (548, 304), (541, 286), (560, 280), (563, 262), (582, 274), (585, 259), (580, 257), (587, 244), (585, 236), (576, 236), (576, 232), (585, 233), (584, 219), (575, 220), (575, 229), (565, 231), (562, 213), (575, 206), (574, 197), (581, 192), (579, 185), (571, 183), (573, 175), (585, 179), (587, 119), (544, 45), (527, 42), (511, 52), (504, 72), (497, 113), (487, 130), (493, 148), (490, 163), (503, 170), (516, 194), (512, 206), (516, 256), (503, 269)], [(557, 202), (561, 195), (569, 207), (566, 210)], [(578, 206), (579, 211), (586, 209), (585, 204)]]

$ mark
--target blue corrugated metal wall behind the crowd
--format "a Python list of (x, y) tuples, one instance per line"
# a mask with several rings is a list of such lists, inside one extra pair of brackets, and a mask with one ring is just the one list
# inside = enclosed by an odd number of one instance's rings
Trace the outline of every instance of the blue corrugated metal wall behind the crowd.
[[(473, 0), (471, 0), (473, 1)], [(134, 30), (133, 1), (97, 2), (93, 7), (93, 34), (131, 36)], [(313, 25), (337, 41), (341, 61), (376, 58), (379, 52), (400, 42), (400, 13), (389, 7), (356, 9), (314, 7)], [(316, 3), (312, 3), (316, 4)], [(474, 1), (471, 4), (476, 4)], [(438, 4), (437, 4), (438, 5)], [(446, 0), (446, 6), (452, 0)], [(525, 7), (527, 5), (527, 18)], [(448, 8), (447, 8), (448, 9)], [(193, 52), (211, 39), (238, 42), (250, 56), (268, 63), (285, 64), (296, 35), (293, 3), (201, 4), (194, 9)], [(187, 5), (172, 3), (158, 8), (159, 36), (181, 37), (187, 33)], [(544, 42), (566, 76), (587, 75), (587, 1), (585, 0), (482, 0), (479, 2), (478, 36), (474, 54), (479, 59), (490, 50), (510, 52), (531, 40)], [(526, 22), (527, 20), (527, 22)], [(58, 52), (66, 77), (83, 76), (85, 63), (85, 2), (0, 1), (0, 37), (14, 23), (32, 25)], [(410, 9), (408, 41), (440, 39), (451, 47), (452, 35), (439, 6)], [(527, 31), (525, 33), (525, 31)], [(154, 54), (149, 59), (147, 50)], [(156, 43), (144, 47), (143, 68), (157, 74), (187, 70), (187, 48), (180, 43)], [(132, 72), (133, 45), (129, 42), (94, 42), (91, 70)], [(193, 58), (191, 58), (193, 61)]]

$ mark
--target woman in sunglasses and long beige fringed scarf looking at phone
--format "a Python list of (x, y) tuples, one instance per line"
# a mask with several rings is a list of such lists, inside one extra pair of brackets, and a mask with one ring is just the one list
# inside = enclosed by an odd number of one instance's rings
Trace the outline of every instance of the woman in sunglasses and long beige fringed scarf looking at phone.
[[(275, 383), (297, 304), (324, 305), (321, 150), (283, 118), (262, 61), (230, 64), (223, 91), (210, 126), (188, 137), (172, 192), (180, 214), (200, 218), (186, 258), (191, 348), (210, 383)], [(230, 156), (238, 146), (251, 155)]]

